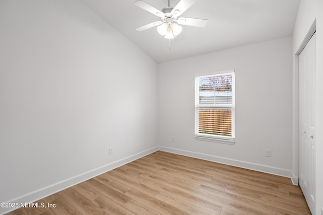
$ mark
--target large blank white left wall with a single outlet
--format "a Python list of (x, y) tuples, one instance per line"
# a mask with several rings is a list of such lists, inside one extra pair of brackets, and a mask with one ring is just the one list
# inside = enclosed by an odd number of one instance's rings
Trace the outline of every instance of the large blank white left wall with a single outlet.
[(156, 147), (157, 96), (157, 63), (83, 3), (0, 1), (0, 202)]

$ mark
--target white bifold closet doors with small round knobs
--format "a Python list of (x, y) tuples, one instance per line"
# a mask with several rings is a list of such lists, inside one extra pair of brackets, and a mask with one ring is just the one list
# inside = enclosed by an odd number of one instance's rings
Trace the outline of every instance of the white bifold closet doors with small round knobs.
[(299, 55), (299, 185), (315, 213), (315, 34)]

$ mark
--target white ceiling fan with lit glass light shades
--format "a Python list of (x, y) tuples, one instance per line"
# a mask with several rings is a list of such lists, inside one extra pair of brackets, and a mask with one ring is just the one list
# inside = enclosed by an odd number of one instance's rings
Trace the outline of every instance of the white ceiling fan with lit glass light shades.
[(174, 8), (172, 8), (170, 0), (168, 0), (168, 7), (159, 11), (144, 1), (136, 1), (136, 6), (161, 18), (161, 21), (141, 26), (136, 28), (136, 30), (143, 31), (157, 26), (157, 31), (160, 35), (165, 36), (167, 39), (174, 39), (182, 32), (182, 26), (180, 25), (204, 27), (207, 23), (206, 19), (179, 17), (195, 2), (197, 2), (197, 0), (181, 0)]

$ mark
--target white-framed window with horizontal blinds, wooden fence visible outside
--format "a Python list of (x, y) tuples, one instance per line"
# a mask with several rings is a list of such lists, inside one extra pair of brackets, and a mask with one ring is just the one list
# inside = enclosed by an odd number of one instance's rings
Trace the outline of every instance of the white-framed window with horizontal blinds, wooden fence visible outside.
[(195, 78), (195, 137), (233, 144), (235, 72)]

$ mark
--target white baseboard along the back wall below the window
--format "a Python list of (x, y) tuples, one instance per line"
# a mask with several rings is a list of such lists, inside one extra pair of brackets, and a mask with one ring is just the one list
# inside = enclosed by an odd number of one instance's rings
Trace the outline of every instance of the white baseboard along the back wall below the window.
[(159, 146), (159, 150), (178, 154), (178, 155), (189, 156), (192, 158), (213, 161), (213, 162), (217, 162), (217, 163), (221, 163), (221, 164), (227, 164), (227, 165), (231, 165), (231, 166), (235, 166), (235, 167), (241, 167), (241, 168), (245, 168), (245, 169), (255, 170), (255, 171), (259, 171), (259, 172), (270, 173), (273, 175), (284, 176), (287, 178), (291, 178), (292, 183), (294, 184), (294, 181), (293, 181), (294, 177), (292, 177), (291, 170), (281, 169), (281, 168), (276, 168), (276, 167), (271, 167), (271, 166), (266, 166), (266, 165), (261, 165), (261, 164), (256, 164), (256, 163), (250, 163), (250, 162), (245, 162), (245, 161), (239, 161), (239, 160), (234, 160), (234, 159), (229, 159), (229, 158), (223, 158), (223, 157), (218, 157), (218, 156), (213, 156), (213, 155), (207, 155), (207, 154), (202, 154), (202, 153), (196, 153), (196, 152), (191, 152), (191, 151), (186, 151), (186, 150), (163, 147), (163, 146)]

